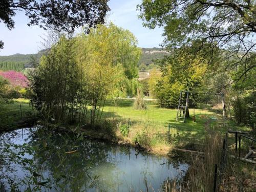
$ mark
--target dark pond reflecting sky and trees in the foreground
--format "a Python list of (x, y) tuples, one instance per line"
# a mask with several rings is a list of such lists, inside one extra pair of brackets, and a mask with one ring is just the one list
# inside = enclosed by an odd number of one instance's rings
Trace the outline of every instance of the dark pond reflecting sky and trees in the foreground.
[(133, 147), (44, 127), (3, 133), (0, 144), (0, 191), (163, 191), (188, 169)]

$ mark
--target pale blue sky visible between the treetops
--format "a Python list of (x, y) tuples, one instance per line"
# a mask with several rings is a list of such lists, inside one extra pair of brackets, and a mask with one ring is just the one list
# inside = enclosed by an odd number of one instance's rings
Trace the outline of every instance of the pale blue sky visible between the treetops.
[[(106, 20), (130, 30), (138, 39), (138, 47), (160, 47), (163, 28), (150, 30), (143, 27), (142, 21), (138, 19), (139, 12), (136, 11), (136, 6), (140, 3), (141, 0), (110, 0), (108, 4), (111, 11), (108, 12)], [(11, 31), (3, 22), (0, 23), (0, 40), (5, 43), (0, 55), (31, 54), (40, 51), (42, 37), (46, 31), (38, 26), (29, 27), (29, 20), (22, 12), (16, 12), (13, 19), (15, 26)]]

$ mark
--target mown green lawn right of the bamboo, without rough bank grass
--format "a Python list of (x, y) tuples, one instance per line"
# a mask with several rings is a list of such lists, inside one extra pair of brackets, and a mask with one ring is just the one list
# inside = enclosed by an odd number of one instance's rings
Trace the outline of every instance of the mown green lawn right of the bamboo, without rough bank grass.
[[(135, 110), (133, 100), (122, 99), (119, 104), (108, 100), (104, 107), (104, 114), (121, 118), (124, 121), (140, 123), (145, 127), (153, 127), (151, 132), (166, 133), (168, 124), (171, 127), (171, 133), (179, 133), (180, 140), (190, 140), (196, 143), (204, 138), (206, 129), (225, 133), (222, 120), (222, 112), (215, 113), (207, 110), (195, 110), (196, 122), (187, 119), (185, 123), (176, 121), (176, 109), (159, 108), (155, 101), (146, 101), (147, 109), (144, 111)], [(190, 116), (193, 116), (193, 109), (189, 110)], [(214, 118), (217, 118), (216, 120)], [(218, 124), (218, 126), (216, 126)]]

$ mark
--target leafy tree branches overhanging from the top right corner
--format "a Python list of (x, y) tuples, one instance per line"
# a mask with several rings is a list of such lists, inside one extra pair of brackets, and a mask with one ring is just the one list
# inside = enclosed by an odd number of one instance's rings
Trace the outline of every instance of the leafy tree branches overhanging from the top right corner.
[(143, 0), (138, 9), (144, 26), (164, 26), (169, 51), (192, 47), (208, 65), (221, 54), (226, 70), (239, 69), (237, 80), (256, 67), (256, 1)]

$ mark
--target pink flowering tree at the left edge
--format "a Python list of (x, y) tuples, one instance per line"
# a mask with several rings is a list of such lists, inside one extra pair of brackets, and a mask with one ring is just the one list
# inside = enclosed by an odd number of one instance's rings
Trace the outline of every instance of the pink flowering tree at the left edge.
[(27, 88), (29, 86), (29, 80), (23, 73), (16, 71), (0, 71), (0, 76), (8, 79), (13, 87)]

